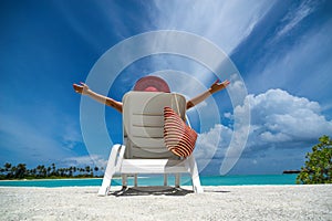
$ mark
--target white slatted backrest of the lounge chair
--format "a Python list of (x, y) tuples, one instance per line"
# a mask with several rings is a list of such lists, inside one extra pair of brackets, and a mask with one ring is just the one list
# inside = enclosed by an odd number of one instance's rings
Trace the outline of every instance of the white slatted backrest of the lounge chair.
[(127, 159), (178, 159), (164, 143), (164, 107), (185, 118), (186, 98), (175, 93), (128, 92), (123, 97)]

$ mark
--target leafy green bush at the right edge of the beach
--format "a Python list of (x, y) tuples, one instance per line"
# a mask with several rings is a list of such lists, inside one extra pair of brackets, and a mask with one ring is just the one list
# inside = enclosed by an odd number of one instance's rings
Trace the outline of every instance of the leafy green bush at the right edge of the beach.
[(297, 178), (297, 183), (332, 183), (332, 140), (324, 135), (319, 138), (320, 144), (308, 152), (305, 165)]

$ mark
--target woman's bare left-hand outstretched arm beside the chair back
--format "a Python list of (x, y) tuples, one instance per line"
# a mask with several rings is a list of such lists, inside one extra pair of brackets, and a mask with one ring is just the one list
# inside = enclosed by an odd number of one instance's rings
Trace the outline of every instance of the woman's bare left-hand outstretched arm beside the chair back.
[(73, 84), (73, 87), (76, 93), (87, 95), (91, 98), (93, 98), (102, 104), (105, 104), (107, 106), (111, 106), (111, 107), (115, 108), (117, 112), (122, 113), (122, 103), (121, 102), (117, 102), (115, 99), (112, 99), (110, 97), (106, 97), (104, 95), (93, 92), (92, 90), (89, 88), (89, 86), (86, 84), (84, 84), (82, 82), (80, 84), (81, 85)]

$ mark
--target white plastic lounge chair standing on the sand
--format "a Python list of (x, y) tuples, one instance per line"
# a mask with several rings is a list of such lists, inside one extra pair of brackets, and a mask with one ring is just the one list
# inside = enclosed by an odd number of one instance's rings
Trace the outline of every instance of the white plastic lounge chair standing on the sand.
[(185, 116), (186, 99), (183, 95), (158, 92), (128, 92), (123, 97), (124, 145), (114, 145), (111, 150), (98, 196), (106, 196), (115, 173), (122, 175), (123, 188), (127, 187), (127, 176), (138, 173), (164, 173), (176, 176), (175, 187), (179, 187), (180, 173), (190, 173), (193, 189), (203, 192), (197, 164), (193, 155), (180, 159), (164, 144), (164, 107), (169, 106)]

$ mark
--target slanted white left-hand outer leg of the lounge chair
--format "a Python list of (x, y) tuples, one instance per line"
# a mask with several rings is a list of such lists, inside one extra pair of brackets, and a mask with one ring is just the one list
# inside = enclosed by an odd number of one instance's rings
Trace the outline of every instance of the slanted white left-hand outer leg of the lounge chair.
[(107, 161), (107, 166), (106, 166), (106, 170), (105, 170), (105, 173), (104, 173), (102, 187), (98, 190), (98, 196), (101, 196), (101, 197), (106, 196), (110, 188), (111, 188), (112, 177), (115, 173), (116, 157), (117, 157), (117, 152), (118, 152), (121, 147), (122, 147), (121, 145), (114, 145), (112, 147), (110, 158), (108, 158), (108, 161)]

